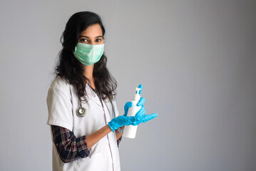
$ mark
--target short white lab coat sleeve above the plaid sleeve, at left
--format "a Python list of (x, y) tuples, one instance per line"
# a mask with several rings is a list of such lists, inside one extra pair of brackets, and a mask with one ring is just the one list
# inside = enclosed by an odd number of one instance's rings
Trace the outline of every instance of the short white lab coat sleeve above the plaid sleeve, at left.
[(73, 130), (71, 93), (69, 88), (53, 85), (48, 90), (48, 125), (57, 125)]

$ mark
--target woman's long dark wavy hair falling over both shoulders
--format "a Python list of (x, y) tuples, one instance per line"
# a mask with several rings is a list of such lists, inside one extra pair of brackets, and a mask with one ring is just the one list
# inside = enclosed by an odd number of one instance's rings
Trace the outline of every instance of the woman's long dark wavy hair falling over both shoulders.
[[(61, 36), (62, 50), (58, 55), (58, 64), (55, 68), (56, 77), (60, 76), (64, 78), (68, 83), (75, 86), (78, 98), (86, 96), (86, 83), (90, 83), (88, 78), (83, 75), (84, 68), (83, 64), (76, 59), (73, 55), (73, 49), (78, 43), (79, 35), (84, 31), (88, 26), (93, 24), (99, 24), (103, 33), (105, 34), (105, 28), (102, 24), (100, 16), (90, 11), (83, 11), (73, 14), (66, 24), (66, 28), (63, 31)], [(113, 100), (116, 96), (116, 87), (117, 83), (115, 78), (111, 75), (106, 67), (107, 57), (103, 53), (100, 61), (94, 64), (93, 67), (93, 78), (95, 81), (96, 89), (103, 100), (107, 98)]]

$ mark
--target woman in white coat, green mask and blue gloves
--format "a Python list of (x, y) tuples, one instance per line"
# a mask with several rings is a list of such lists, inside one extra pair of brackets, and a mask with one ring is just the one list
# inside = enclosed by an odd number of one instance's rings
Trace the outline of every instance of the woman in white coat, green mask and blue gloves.
[[(106, 68), (105, 28), (92, 12), (73, 14), (63, 31), (56, 78), (48, 90), (48, 121), (53, 140), (53, 170), (120, 170), (118, 144), (125, 125), (157, 116), (140, 110), (118, 116), (116, 80)], [(142, 87), (141, 87), (142, 88)]]

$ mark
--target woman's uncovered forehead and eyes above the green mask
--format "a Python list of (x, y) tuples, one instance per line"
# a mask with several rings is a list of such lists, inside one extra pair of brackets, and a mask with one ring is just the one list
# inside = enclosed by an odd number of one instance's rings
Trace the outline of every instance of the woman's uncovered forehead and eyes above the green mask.
[(79, 43), (87, 44), (103, 44), (103, 41), (102, 30), (99, 24), (88, 26), (88, 28), (80, 33), (78, 38)]

